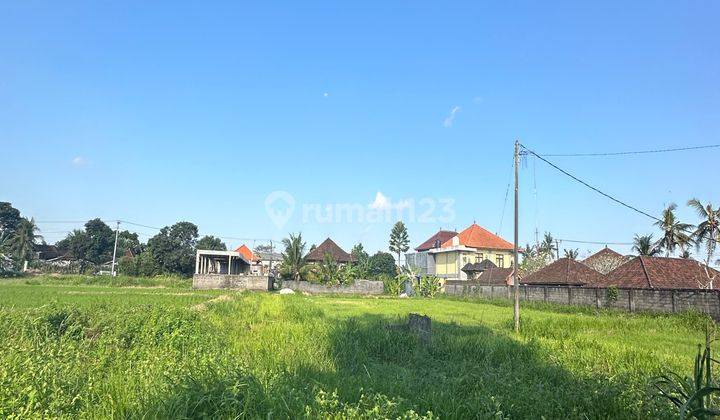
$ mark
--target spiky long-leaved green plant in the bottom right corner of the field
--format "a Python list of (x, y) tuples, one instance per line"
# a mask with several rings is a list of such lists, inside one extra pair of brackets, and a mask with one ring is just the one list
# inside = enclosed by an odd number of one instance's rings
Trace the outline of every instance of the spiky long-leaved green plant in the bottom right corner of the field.
[(679, 411), (679, 418), (708, 419), (720, 416), (720, 387), (713, 378), (712, 367), (717, 364), (711, 356), (709, 332), (706, 330), (705, 348), (698, 345), (692, 376), (682, 377), (670, 371), (653, 383), (657, 395), (670, 401)]

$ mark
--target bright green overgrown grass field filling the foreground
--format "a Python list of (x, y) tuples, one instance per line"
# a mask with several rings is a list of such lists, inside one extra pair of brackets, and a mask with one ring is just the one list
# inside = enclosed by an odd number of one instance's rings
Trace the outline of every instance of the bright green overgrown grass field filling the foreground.
[[(387, 328), (432, 317), (430, 347)], [(647, 418), (706, 319), (458, 299), (0, 280), (0, 417)]]

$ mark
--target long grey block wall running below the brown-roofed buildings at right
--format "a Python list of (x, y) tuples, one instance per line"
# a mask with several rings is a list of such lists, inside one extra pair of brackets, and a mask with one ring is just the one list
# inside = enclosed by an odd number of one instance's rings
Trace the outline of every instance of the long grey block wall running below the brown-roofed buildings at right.
[[(481, 286), (448, 282), (445, 293), (510, 299), (512, 286)], [(617, 308), (630, 312), (682, 312), (695, 310), (720, 320), (720, 291), (701, 289), (617, 289), (617, 299), (609, 298), (608, 289), (572, 286), (520, 286), (520, 300), (561, 305)]]

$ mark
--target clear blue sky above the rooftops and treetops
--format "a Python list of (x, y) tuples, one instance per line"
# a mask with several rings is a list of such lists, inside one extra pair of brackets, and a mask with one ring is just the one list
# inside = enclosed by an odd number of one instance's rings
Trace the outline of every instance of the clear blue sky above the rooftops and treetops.
[[(41, 221), (189, 220), (375, 251), (392, 220), (303, 223), (301, 208), (380, 192), (454, 200), (450, 222), (409, 221), (412, 244), (474, 220), (496, 231), (516, 138), (545, 153), (720, 143), (717, 16), (713, 1), (3, 2), (0, 200)], [(719, 153), (554, 162), (695, 222), (687, 199), (720, 201)], [(273, 191), (296, 203), (281, 228)], [(53, 242), (74, 226), (41, 227)], [(653, 230), (528, 159), (523, 243), (536, 227), (610, 242)]]

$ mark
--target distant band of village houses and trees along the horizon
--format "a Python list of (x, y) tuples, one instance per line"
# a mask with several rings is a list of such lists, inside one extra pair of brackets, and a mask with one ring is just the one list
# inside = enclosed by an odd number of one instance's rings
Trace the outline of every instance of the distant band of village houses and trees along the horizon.
[[(21, 217), (10, 203), (0, 206), (0, 267), (6, 273), (265, 276), (325, 285), (402, 277), (411, 282), (433, 279), (442, 288), (457, 282), (512, 285), (517, 266), (519, 283), (524, 285), (642, 289), (717, 289), (720, 274), (707, 261), (691, 258), (693, 234), (684, 233), (690, 225), (678, 226), (673, 206), (664, 214), (668, 226), (658, 224), (665, 233), (660, 240), (636, 236), (637, 255), (605, 247), (582, 260), (576, 250), (565, 250), (561, 257), (548, 233), (541, 243), (518, 250), (519, 265), (513, 244), (477, 223), (460, 232), (439, 230), (411, 250), (407, 228), (398, 222), (390, 234), (390, 252), (373, 255), (359, 243), (348, 252), (331, 238), (308, 248), (301, 234), (291, 234), (281, 243), (243, 244), (228, 250), (220, 238), (198, 238), (197, 226), (189, 222), (164, 227), (143, 244), (136, 233), (120, 231), (120, 222), (113, 230), (94, 219), (84, 230), (47, 244), (34, 221)], [(713, 244), (707, 242), (710, 248)], [(671, 257), (678, 249), (680, 257)]]

